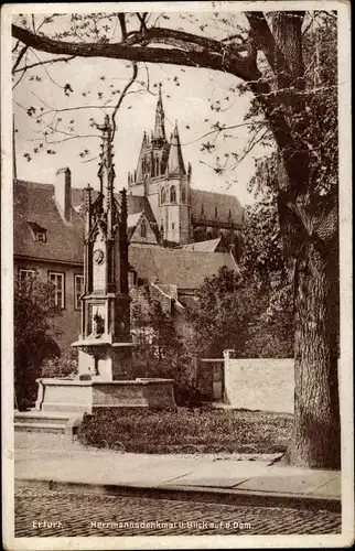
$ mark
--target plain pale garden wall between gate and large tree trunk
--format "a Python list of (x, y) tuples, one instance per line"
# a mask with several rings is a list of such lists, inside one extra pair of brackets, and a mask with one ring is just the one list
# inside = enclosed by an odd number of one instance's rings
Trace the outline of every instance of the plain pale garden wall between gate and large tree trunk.
[(225, 358), (225, 396), (234, 408), (294, 410), (294, 360)]

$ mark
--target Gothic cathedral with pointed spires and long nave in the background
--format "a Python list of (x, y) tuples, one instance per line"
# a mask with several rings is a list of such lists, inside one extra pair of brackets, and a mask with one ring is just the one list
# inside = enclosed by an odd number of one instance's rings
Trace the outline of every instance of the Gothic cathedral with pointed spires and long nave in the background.
[[(147, 219), (141, 220), (142, 240), (148, 225), (157, 242), (164, 247), (198, 250), (202, 242), (218, 240), (232, 249), (235, 257), (239, 256), (244, 208), (234, 195), (193, 186), (192, 166), (190, 163), (186, 166), (183, 159), (178, 122), (170, 140), (166, 139), (161, 85), (154, 129), (143, 133), (137, 169), (128, 174), (129, 207), (135, 196), (144, 197), (143, 202), (148, 203)], [(139, 213), (129, 208), (129, 214), (131, 220), (136, 215), (135, 222), (138, 222)]]

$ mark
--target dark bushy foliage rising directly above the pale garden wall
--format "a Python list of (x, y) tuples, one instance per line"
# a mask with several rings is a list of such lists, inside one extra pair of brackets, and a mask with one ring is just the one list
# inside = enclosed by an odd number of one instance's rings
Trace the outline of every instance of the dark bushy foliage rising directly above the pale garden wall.
[[(256, 279), (222, 268), (198, 290), (190, 311), (194, 347), (200, 357), (220, 358), (223, 350), (236, 357), (291, 357), (293, 324), (290, 302), (270, 304), (272, 289)], [(292, 314), (292, 312), (291, 312)]]

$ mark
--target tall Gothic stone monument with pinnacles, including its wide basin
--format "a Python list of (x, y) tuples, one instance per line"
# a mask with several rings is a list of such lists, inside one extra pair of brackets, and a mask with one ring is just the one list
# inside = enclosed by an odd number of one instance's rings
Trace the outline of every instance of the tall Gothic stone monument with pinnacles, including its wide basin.
[(36, 409), (92, 413), (97, 408), (175, 407), (172, 379), (132, 378), (127, 194), (114, 193), (112, 128), (98, 126), (99, 193), (85, 188), (84, 294), (76, 379), (37, 379)]

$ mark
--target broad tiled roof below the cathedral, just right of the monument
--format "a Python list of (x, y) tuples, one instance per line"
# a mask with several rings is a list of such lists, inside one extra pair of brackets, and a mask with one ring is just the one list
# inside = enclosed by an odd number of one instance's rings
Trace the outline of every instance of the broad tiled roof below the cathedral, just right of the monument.
[(235, 267), (227, 252), (195, 252), (131, 244), (128, 255), (129, 263), (140, 278), (182, 289), (197, 289), (205, 278), (216, 274), (223, 266)]

